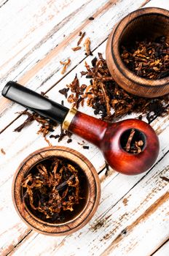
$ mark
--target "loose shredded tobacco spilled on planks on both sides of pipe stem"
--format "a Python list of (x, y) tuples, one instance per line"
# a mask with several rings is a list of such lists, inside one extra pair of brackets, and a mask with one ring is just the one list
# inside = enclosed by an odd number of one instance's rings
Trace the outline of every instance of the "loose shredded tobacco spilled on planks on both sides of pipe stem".
[[(74, 107), (79, 108), (79, 105), (83, 107), (84, 102), (87, 102), (87, 105), (93, 108), (95, 115), (100, 114), (101, 118), (105, 121), (117, 121), (127, 114), (138, 113), (139, 119), (146, 116), (148, 122), (151, 123), (157, 116), (168, 115), (168, 95), (153, 99), (137, 97), (117, 85), (111, 77), (106, 60), (103, 59), (101, 53), (98, 53), (98, 58), (95, 57), (91, 63), (92, 67), (85, 62), (86, 71), (80, 72), (82, 76), (85, 75), (86, 78), (90, 79), (88, 86), (86, 84), (80, 86), (76, 75), (66, 88), (59, 91)], [(70, 94), (68, 95), (68, 93)], [(57, 125), (53, 121), (42, 118), (35, 113), (29, 113), (27, 110), (20, 114), (27, 115), (28, 118), (15, 129), (17, 132), (20, 132), (23, 127), (36, 120), (42, 124), (39, 133), (42, 133), (46, 139), (46, 135), (52, 132)], [(67, 132), (61, 131), (60, 135), (50, 135), (50, 138), (59, 138), (60, 141), (67, 135)], [(48, 141), (48, 143), (50, 142)]]

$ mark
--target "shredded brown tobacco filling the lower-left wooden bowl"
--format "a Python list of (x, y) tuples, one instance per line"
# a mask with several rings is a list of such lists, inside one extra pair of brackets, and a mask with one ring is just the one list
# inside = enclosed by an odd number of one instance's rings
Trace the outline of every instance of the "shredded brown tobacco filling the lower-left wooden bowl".
[(22, 181), (23, 206), (44, 222), (60, 223), (84, 208), (87, 178), (74, 162), (51, 157), (36, 164)]

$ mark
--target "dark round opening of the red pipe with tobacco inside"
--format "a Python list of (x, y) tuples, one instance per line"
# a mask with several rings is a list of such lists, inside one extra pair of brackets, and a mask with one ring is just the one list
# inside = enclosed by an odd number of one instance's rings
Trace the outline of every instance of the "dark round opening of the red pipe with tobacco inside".
[(141, 153), (144, 148), (144, 137), (137, 129), (129, 129), (122, 134), (121, 146), (127, 153)]

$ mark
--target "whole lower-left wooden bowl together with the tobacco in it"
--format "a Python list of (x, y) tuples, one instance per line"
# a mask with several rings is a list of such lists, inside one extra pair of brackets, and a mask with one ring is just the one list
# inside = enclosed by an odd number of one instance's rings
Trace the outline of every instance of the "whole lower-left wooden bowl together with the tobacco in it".
[[(55, 186), (59, 176), (60, 184)], [(70, 181), (72, 184), (67, 183)], [(86, 225), (100, 197), (101, 184), (93, 165), (79, 152), (63, 146), (41, 148), (30, 154), (20, 163), (12, 184), (12, 199), (19, 216), (29, 227), (50, 236), (65, 236)]]

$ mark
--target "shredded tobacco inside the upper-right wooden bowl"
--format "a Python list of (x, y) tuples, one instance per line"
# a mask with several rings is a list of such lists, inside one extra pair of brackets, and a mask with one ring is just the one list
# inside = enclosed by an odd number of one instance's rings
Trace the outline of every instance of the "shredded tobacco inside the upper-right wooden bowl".
[(169, 76), (169, 44), (166, 37), (154, 42), (144, 40), (133, 46), (122, 46), (122, 60), (131, 71), (141, 78), (160, 79)]

